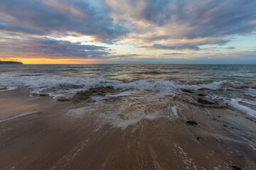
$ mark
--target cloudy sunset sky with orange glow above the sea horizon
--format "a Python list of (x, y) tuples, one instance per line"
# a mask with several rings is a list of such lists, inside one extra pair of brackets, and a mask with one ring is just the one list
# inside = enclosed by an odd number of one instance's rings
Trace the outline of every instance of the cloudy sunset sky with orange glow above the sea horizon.
[(256, 64), (256, 1), (0, 0), (0, 60)]

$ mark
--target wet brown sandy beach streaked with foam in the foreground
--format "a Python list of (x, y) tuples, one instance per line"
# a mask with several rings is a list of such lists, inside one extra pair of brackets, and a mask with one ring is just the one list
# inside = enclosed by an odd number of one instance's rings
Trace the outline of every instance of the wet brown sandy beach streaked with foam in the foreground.
[[(256, 169), (256, 120), (228, 107), (0, 96), (0, 169)], [(129, 117), (142, 109), (146, 117)]]

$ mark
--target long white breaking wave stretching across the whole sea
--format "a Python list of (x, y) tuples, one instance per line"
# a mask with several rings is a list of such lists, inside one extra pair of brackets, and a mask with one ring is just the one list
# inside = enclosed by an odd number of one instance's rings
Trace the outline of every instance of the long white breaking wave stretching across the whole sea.
[[(178, 89), (191, 90), (219, 90), (256, 88), (255, 82), (213, 81), (205, 84), (182, 84), (181, 81), (165, 79), (140, 79), (136, 81), (121, 81), (117, 79), (90, 78), (90, 77), (63, 77), (53, 74), (0, 74), (0, 86), (16, 86), (30, 89), (89, 89), (100, 86), (113, 86), (114, 89), (139, 91), (174, 91)], [(70, 87), (70, 88), (63, 88)]]

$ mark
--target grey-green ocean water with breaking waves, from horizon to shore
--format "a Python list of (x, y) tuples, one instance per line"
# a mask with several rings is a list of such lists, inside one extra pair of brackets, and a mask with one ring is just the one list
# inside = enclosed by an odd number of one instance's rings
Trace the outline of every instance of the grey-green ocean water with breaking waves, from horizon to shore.
[[(235, 108), (256, 118), (256, 65), (0, 65), (0, 86), (2, 91), (47, 93), (53, 99), (92, 87), (113, 86), (114, 94), (91, 99), (103, 102), (106, 98), (132, 100), (139, 96), (164, 103), (164, 98), (171, 96), (202, 105), (198, 98), (208, 98), (216, 101), (214, 107)], [(175, 112), (176, 106), (171, 110)]]

